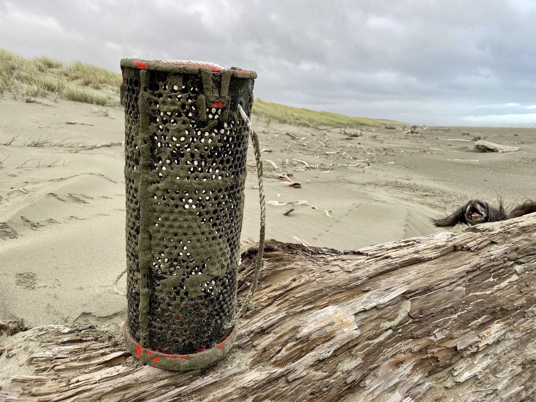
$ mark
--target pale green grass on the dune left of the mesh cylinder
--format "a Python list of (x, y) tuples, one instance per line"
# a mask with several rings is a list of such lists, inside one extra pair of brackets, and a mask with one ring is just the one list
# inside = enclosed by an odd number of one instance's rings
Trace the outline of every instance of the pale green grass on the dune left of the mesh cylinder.
[(0, 94), (10, 91), (37, 98), (54, 93), (72, 101), (115, 106), (121, 81), (121, 74), (99, 66), (47, 56), (27, 58), (0, 48)]

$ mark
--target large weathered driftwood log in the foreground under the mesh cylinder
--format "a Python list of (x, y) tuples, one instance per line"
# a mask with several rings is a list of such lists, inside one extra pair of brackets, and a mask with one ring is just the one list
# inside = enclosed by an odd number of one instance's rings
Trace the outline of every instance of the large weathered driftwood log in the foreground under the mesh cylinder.
[[(256, 308), (215, 366), (136, 367), (99, 330), (40, 327), (3, 339), (31, 373), (0, 400), (536, 400), (536, 214), (360, 250), (269, 241), (265, 253)], [(256, 254), (242, 255), (239, 296)]]

